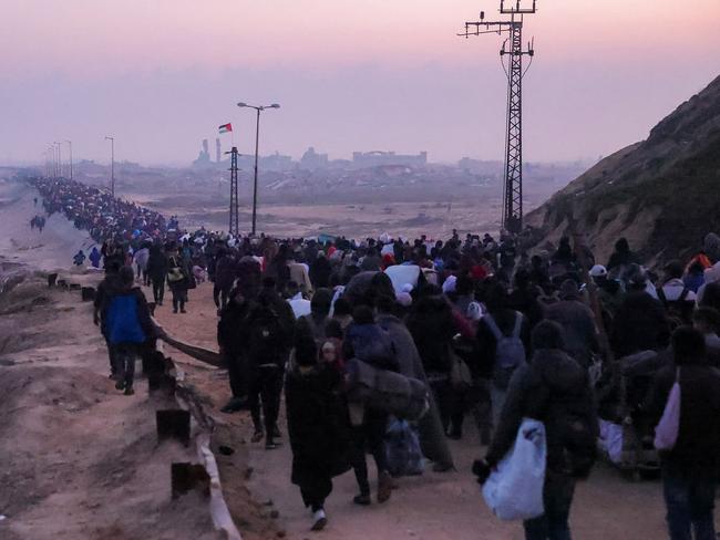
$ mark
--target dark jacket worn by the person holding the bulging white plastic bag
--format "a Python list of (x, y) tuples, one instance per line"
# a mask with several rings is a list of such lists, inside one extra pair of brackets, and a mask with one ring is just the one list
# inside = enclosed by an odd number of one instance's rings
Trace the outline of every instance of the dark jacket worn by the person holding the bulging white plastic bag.
[(532, 360), (515, 371), (500, 424), (493, 436), (486, 460), (495, 466), (512, 448), (523, 418), (545, 424), (547, 468), (564, 472), (568, 468), (562, 437), (563, 419), (580, 418), (594, 437), (599, 433), (593, 391), (585, 370), (557, 349), (535, 351)]

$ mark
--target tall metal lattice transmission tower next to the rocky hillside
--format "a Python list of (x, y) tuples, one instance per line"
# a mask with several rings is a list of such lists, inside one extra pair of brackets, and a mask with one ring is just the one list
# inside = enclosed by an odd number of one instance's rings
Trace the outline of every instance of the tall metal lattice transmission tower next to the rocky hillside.
[[(507, 124), (505, 139), (505, 181), (503, 186), (503, 227), (510, 232), (523, 229), (523, 56), (535, 54), (533, 42), (523, 49), (523, 19), (526, 14), (535, 13), (536, 0), (533, 7), (523, 7), (522, 0), (515, 0), (514, 6), (506, 7), (505, 0), (500, 2), (500, 13), (510, 15), (502, 21), (485, 21), (485, 12), (480, 12), (480, 21), (465, 22), (465, 32), (457, 34), (464, 38), (486, 33), (508, 33), (500, 51), (501, 62), (507, 75)], [(505, 56), (508, 56), (505, 64)], [(528, 66), (529, 68), (529, 64)]]

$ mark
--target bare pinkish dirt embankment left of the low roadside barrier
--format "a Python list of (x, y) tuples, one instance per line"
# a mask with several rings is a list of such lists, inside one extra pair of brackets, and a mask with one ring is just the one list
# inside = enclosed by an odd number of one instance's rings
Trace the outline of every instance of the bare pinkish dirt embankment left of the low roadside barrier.
[(195, 460), (157, 443), (154, 412), (176, 405), (145, 381), (117, 392), (91, 304), (13, 271), (0, 293), (0, 538), (219, 538), (206, 500), (171, 498), (171, 464)]

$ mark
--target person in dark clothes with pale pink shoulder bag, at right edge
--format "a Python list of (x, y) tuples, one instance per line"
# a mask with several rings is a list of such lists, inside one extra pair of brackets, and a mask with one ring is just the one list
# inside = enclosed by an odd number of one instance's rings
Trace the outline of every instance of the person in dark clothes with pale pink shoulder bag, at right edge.
[(711, 540), (720, 466), (720, 372), (709, 365), (703, 335), (672, 334), (673, 365), (657, 373), (644, 404), (656, 420), (671, 540)]

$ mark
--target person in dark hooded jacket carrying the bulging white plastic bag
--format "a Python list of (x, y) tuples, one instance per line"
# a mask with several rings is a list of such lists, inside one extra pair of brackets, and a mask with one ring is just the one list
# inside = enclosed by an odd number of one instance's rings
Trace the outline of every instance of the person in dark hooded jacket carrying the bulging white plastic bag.
[(531, 361), (512, 376), (487, 455), (474, 463), (473, 472), (484, 484), (517, 445), (524, 420), (542, 423), (547, 451), (544, 512), (524, 521), (525, 538), (565, 540), (570, 538), (568, 518), (575, 484), (589, 475), (595, 461), (598, 422), (587, 373), (564, 352), (562, 326), (542, 321), (533, 330), (532, 346)]

